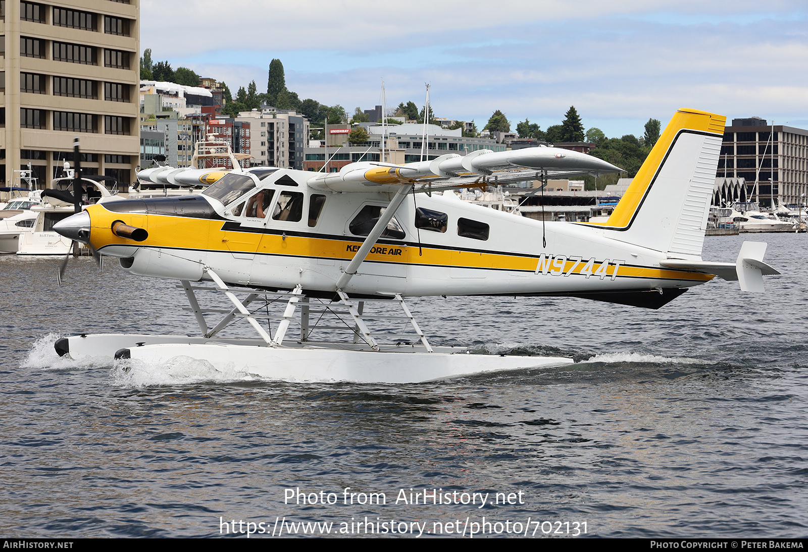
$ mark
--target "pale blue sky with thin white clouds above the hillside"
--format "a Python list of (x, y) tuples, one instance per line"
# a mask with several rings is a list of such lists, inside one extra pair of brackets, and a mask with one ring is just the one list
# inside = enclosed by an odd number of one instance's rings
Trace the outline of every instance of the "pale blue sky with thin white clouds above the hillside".
[(234, 95), (266, 91), (278, 58), (289, 90), (349, 113), (382, 81), (388, 107), (423, 107), (428, 82), (436, 116), (481, 130), (498, 109), (546, 129), (574, 106), (619, 137), (679, 107), (808, 128), (806, 23), (804, 0), (142, 0), (141, 48)]

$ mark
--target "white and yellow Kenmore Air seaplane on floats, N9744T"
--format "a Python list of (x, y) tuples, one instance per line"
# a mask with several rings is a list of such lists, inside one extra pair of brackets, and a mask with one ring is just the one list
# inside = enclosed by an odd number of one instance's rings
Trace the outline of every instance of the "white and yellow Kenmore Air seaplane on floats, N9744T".
[[(301, 382), (418, 383), (570, 363), (433, 347), (406, 299), (570, 296), (659, 308), (715, 276), (764, 291), (763, 276), (779, 274), (763, 261), (766, 244), (744, 243), (735, 263), (701, 258), (725, 123), (676, 111), (597, 224), (532, 220), (452, 192), (621, 171), (554, 147), (364, 161), (327, 173), (254, 167), (225, 174), (202, 194), (90, 205), (54, 228), (118, 257), (130, 274), (177, 280), (200, 335), (79, 334), (57, 341), (57, 353), (115, 358), (131, 370), (191, 358)], [(202, 307), (206, 291), (225, 308)], [(269, 314), (270, 304), (282, 314)], [(385, 314), (374, 319), (371, 305)], [(326, 315), (348, 329), (344, 342), (318, 341)], [(397, 319), (412, 340), (382, 343), (370, 328), (380, 319)], [(236, 320), (253, 337), (221, 337)], [(299, 335), (288, 332), (292, 322)]]

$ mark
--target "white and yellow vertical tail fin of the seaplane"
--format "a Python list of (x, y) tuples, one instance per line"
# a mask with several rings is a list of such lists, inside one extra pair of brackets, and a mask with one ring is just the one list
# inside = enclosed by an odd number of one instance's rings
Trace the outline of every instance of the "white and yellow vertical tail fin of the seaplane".
[(676, 111), (599, 225), (616, 231), (616, 239), (671, 257), (701, 257), (725, 123), (726, 117), (706, 111)]

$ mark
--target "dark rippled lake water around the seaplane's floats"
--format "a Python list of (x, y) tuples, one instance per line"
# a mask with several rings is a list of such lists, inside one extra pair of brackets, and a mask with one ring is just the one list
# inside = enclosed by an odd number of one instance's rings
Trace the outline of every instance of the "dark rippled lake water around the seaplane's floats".
[[(599, 537), (805, 536), (806, 235), (751, 240), (767, 240), (766, 260), (784, 273), (766, 278), (767, 295), (716, 280), (659, 311), (412, 300), (438, 345), (579, 361), (412, 385), (275, 383), (187, 359), (127, 373), (57, 358), (60, 335), (192, 333), (195, 322), (173, 282), (113, 263), (99, 274), (78, 259), (58, 288), (58, 261), (2, 257), (6, 535), (214, 536), (225, 521), (265, 535), (279, 524), (302, 532), (301, 521), (370, 533), (356, 525), (367, 517), (386, 535), (405, 523), (416, 536), (469, 537), (485, 516), (503, 534), (515, 523), (524, 534), (529, 518), (536, 536), (574, 534), (575, 523)], [(734, 261), (742, 241), (709, 237), (705, 259)], [(326, 504), (284, 504), (298, 488)], [(396, 504), (410, 488), (452, 500), (499, 492), (505, 504)], [(372, 492), (386, 504), (359, 504)]]

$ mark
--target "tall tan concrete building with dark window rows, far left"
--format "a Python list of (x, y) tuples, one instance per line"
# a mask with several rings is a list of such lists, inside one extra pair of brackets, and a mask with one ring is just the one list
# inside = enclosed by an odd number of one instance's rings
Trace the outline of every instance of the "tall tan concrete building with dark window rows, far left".
[[(125, 189), (139, 159), (139, 0), (0, 3), (4, 29), (0, 175), (28, 161), (41, 183), (72, 161)], [(19, 177), (19, 173), (16, 173)]]

